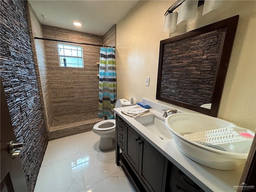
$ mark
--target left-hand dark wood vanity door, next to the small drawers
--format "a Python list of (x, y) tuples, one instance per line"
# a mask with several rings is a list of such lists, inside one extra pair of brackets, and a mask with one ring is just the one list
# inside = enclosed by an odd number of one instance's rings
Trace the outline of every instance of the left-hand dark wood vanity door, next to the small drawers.
[(128, 124), (126, 124), (125, 133), (125, 156), (132, 164), (133, 168), (138, 172), (139, 164), (139, 143), (140, 135)]

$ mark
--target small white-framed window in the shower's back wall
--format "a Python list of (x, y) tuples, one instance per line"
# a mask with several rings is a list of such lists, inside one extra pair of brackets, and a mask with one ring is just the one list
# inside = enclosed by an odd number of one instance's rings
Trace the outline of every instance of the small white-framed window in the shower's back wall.
[(58, 44), (61, 67), (84, 67), (82, 47)]

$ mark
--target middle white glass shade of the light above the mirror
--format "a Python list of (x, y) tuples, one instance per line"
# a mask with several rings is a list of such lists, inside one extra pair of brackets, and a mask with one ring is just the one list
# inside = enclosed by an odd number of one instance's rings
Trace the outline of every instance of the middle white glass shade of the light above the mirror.
[(196, 18), (198, 0), (186, 0), (179, 7), (177, 25), (188, 24)]

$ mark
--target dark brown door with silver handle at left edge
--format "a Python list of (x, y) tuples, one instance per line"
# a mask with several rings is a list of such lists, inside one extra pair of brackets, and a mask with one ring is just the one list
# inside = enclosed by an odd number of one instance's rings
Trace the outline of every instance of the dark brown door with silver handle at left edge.
[[(18, 155), (20, 145), (12, 148), (14, 154), (8, 152), (8, 144), (15, 143), (14, 131), (7, 106), (4, 88), (1, 80), (1, 192), (27, 192), (28, 188), (24, 177), (23, 168)], [(15, 146), (13, 146), (15, 147)]]

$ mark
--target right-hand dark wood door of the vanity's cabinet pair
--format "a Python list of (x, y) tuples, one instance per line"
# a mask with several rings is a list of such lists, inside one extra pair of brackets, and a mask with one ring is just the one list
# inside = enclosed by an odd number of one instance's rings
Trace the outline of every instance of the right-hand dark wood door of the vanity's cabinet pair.
[(150, 191), (164, 191), (166, 180), (165, 177), (163, 178), (165, 158), (158, 150), (156, 150), (156, 148), (154, 148), (145, 139), (142, 139), (142, 142), (140, 143), (140, 177), (148, 186), (148, 189)]

